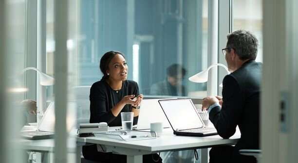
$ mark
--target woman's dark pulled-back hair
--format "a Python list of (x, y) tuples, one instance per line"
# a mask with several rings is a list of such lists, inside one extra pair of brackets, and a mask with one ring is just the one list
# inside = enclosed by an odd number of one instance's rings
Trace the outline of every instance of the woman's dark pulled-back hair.
[(108, 51), (106, 52), (100, 59), (100, 63), (99, 63), (99, 68), (100, 71), (103, 73), (103, 77), (101, 78), (101, 80), (106, 80), (109, 78), (108, 74), (107, 74), (107, 70), (109, 69), (109, 64), (111, 62), (111, 60), (114, 58), (115, 55), (120, 54), (124, 57), (124, 54), (120, 51)]

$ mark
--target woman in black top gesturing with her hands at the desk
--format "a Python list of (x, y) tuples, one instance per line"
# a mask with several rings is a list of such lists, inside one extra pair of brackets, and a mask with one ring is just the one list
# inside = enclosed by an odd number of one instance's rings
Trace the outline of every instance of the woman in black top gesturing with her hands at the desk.
[[(93, 83), (90, 89), (90, 123), (107, 122), (110, 127), (121, 126), (121, 112), (133, 112), (133, 125), (137, 124), (139, 105), (143, 95), (138, 84), (127, 80), (128, 66), (119, 51), (109, 51), (100, 59), (103, 77)], [(125, 155), (98, 152), (96, 145), (84, 146), (83, 155), (87, 160), (104, 163), (126, 163)], [(144, 155), (144, 163), (162, 159), (157, 155)]]

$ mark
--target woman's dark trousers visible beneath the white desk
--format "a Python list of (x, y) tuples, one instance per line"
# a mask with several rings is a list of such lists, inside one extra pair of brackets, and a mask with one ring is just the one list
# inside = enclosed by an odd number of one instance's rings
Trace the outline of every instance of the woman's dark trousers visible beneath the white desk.
[[(96, 145), (83, 146), (83, 156), (87, 160), (100, 163), (126, 163), (126, 155), (98, 152)], [(143, 163), (162, 163), (162, 161), (156, 153), (143, 155)]]

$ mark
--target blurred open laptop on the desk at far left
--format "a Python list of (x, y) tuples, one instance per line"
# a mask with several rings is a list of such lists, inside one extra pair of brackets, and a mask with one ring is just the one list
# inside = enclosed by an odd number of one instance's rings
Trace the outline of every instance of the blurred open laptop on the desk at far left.
[(55, 123), (54, 102), (51, 102), (45, 111), (39, 127), (34, 131), (21, 131), (22, 138), (30, 140), (51, 139), (54, 138)]

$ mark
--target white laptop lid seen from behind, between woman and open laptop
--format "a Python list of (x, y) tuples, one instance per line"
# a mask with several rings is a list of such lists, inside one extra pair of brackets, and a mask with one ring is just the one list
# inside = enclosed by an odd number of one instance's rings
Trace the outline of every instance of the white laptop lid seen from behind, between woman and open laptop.
[(141, 102), (140, 113), (136, 130), (150, 129), (150, 123), (163, 122), (164, 128), (169, 128), (168, 119), (163, 113), (158, 100), (160, 99), (143, 99)]

